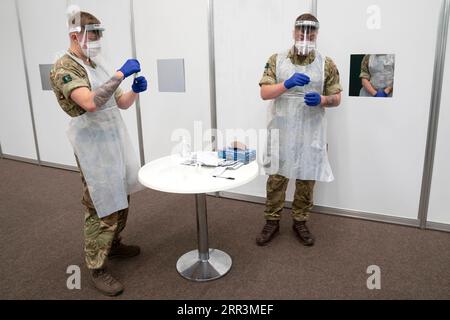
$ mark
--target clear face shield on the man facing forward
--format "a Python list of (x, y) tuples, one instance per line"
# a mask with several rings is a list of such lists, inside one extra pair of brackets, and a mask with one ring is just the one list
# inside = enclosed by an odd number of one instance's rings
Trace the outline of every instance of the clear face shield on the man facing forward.
[(299, 20), (295, 22), (294, 38), (298, 55), (307, 56), (316, 49), (318, 31), (318, 22), (308, 20)]

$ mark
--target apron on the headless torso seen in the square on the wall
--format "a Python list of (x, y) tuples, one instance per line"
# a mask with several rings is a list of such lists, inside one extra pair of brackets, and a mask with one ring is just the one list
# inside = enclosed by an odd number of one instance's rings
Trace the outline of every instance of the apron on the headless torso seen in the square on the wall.
[[(370, 84), (375, 90), (392, 87), (394, 85), (394, 55), (371, 54), (369, 57)], [(359, 93), (362, 97), (372, 97), (363, 87)], [(389, 94), (392, 96), (392, 93)]]

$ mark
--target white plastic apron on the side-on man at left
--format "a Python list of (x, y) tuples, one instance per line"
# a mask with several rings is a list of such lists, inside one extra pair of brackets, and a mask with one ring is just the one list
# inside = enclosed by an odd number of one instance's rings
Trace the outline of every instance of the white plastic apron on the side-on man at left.
[[(111, 79), (106, 69), (85, 65), (91, 90)], [(67, 136), (78, 157), (92, 202), (100, 218), (128, 207), (127, 195), (142, 190), (138, 157), (114, 95), (98, 111), (72, 118)]]

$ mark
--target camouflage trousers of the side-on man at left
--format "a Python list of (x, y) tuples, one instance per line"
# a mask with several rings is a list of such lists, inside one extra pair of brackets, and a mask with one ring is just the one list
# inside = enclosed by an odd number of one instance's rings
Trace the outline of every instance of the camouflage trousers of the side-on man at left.
[[(128, 217), (128, 208), (114, 212), (109, 216), (99, 218), (95, 206), (89, 195), (86, 180), (81, 171), (83, 182), (83, 204), (84, 212), (84, 253), (88, 269), (100, 269), (105, 267), (108, 254), (113, 244), (120, 242), (120, 233), (125, 228)], [(130, 196), (128, 196), (130, 203)]]

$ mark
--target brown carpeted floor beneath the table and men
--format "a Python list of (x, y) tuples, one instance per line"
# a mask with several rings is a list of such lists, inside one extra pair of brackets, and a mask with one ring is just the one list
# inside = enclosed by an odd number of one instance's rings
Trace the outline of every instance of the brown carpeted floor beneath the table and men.
[[(78, 173), (0, 159), (0, 298), (105, 299), (83, 265)], [(267, 247), (254, 238), (260, 204), (208, 197), (210, 245), (229, 253), (225, 277), (194, 283), (175, 264), (196, 247), (194, 198), (142, 191), (132, 197), (124, 242), (142, 254), (112, 261), (125, 285), (115, 299), (449, 299), (450, 234), (313, 214), (317, 242), (302, 246), (289, 211)], [(68, 290), (66, 269), (79, 265), (81, 290)], [(381, 289), (368, 290), (366, 269), (381, 268)], [(110, 299), (110, 298), (107, 298)]]

